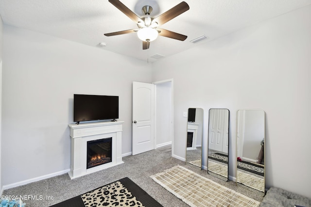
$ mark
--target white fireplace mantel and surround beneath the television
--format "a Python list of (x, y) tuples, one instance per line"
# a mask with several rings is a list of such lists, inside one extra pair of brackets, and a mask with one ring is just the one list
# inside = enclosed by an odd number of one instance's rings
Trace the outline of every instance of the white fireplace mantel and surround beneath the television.
[[(122, 124), (123, 121), (69, 125), (71, 137), (71, 163), (68, 174), (71, 179), (124, 163), (121, 155)], [(111, 162), (86, 169), (87, 142), (110, 137), (112, 138)]]

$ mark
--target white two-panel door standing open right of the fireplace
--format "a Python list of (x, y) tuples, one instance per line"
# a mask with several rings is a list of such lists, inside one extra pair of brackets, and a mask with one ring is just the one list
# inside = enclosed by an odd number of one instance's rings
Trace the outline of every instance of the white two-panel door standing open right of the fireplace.
[(133, 82), (132, 155), (154, 149), (155, 85)]

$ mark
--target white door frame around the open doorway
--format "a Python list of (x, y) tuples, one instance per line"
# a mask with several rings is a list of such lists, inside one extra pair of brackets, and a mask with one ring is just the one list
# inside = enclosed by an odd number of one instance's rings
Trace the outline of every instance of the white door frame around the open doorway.
[(157, 100), (157, 97), (156, 97), (156, 85), (157, 84), (161, 84), (161, 83), (166, 83), (166, 82), (171, 82), (171, 96), (172, 96), (172, 134), (171, 134), (171, 136), (172, 136), (172, 156), (173, 156), (173, 153), (174, 153), (174, 96), (173, 96), (173, 79), (166, 79), (166, 80), (159, 80), (159, 81), (155, 81), (155, 82), (152, 82), (152, 84), (155, 84), (155, 120), (154, 120), (154, 125), (155, 125), (155, 131), (154, 131), (154, 138), (155, 138), (155, 142), (154, 142), (154, 144), (155, 144), (155, 146), (154, 146), (154, 148), (156, 149), (156, 140), (157, 140), (157, 137), (156, 137), (156, 110), (157, 110), (157, 106), (156, 106), (156, 100)]

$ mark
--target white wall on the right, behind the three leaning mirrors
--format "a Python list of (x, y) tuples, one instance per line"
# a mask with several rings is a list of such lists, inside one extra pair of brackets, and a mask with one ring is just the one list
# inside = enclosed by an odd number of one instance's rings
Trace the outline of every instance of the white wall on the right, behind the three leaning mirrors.
[[(174, 154), (185, 158), (183, 111), (229, 109), (229, 175), (236, 177), (236, 113), (263, 109), (266, 187), (311, 197), (310, 54), (308, 6), (155, 62), (153, 81), (174, 79)], [(206, 113), (206, 129), (207, 120)]]

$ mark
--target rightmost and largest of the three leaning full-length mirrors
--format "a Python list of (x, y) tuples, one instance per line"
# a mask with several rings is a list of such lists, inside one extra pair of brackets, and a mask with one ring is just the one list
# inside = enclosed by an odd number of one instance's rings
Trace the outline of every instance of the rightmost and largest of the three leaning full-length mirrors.
[(237, 113), (237, 182), (264, 195), (263, 110), (239, 110)]

